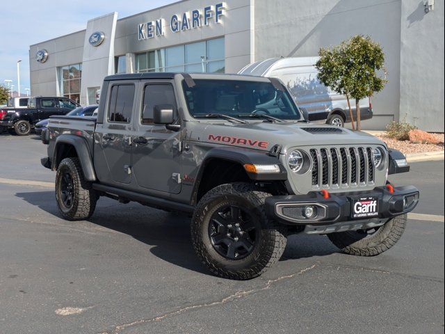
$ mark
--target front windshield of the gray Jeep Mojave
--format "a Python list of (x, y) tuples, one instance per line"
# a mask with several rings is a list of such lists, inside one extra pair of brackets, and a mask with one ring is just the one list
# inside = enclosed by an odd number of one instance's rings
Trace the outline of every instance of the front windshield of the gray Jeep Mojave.
[(300, 111), (284, 89), (270, 82), (197, 79), (195, 86), (184, 81), (188, 111), (193, 117), (219, 113), (232, 117), (268, 115), (300, 120)]

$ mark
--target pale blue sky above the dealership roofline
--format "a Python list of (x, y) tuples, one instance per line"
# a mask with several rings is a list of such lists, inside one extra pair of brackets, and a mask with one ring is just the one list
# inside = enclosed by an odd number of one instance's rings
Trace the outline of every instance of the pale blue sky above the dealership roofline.
[(0, 85), (9, 79), (17, 90), (29, 84), (29, 45), (86, 29), (88, 19), (118, 12), (118, 19), (177, 0), (2, 0), (0, 17)]

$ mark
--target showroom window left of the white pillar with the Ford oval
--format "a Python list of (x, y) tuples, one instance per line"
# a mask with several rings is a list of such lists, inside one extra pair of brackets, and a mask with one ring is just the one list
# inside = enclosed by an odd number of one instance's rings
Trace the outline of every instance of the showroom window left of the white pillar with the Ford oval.
[(79, 103), (81, 100), (82, 64), (59, 67), (58, 77), (60, 95)]

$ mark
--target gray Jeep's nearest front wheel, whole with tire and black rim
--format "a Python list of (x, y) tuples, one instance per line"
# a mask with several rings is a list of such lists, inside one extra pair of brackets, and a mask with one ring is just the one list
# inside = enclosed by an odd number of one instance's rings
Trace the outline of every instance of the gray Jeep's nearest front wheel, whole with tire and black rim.
[(212, 273), (247, 280), (273, 266), (286, 247), (286, 228), (264, 212), (269, 193), (248, 183), (223, 184), (198, 203), (191, 225), (193, 247)]

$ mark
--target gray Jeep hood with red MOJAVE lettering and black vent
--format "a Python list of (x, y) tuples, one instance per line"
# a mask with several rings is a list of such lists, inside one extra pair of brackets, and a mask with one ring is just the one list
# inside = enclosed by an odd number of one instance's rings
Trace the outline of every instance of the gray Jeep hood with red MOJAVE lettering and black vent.
[(380, 139), (365, 132), (353, 132), (330, 125), (298, 122), (249, 122), (248, 124), (230, 125), (225, 122), (191, 123), (195, 123), (192, 126), (193, 131), (189, 132), (192, 141), (257, 150), (270, 150), (274, 145), (282, 145), (282, 153), (285, 153), (289, 148), (298, 146), (385, 145)]

